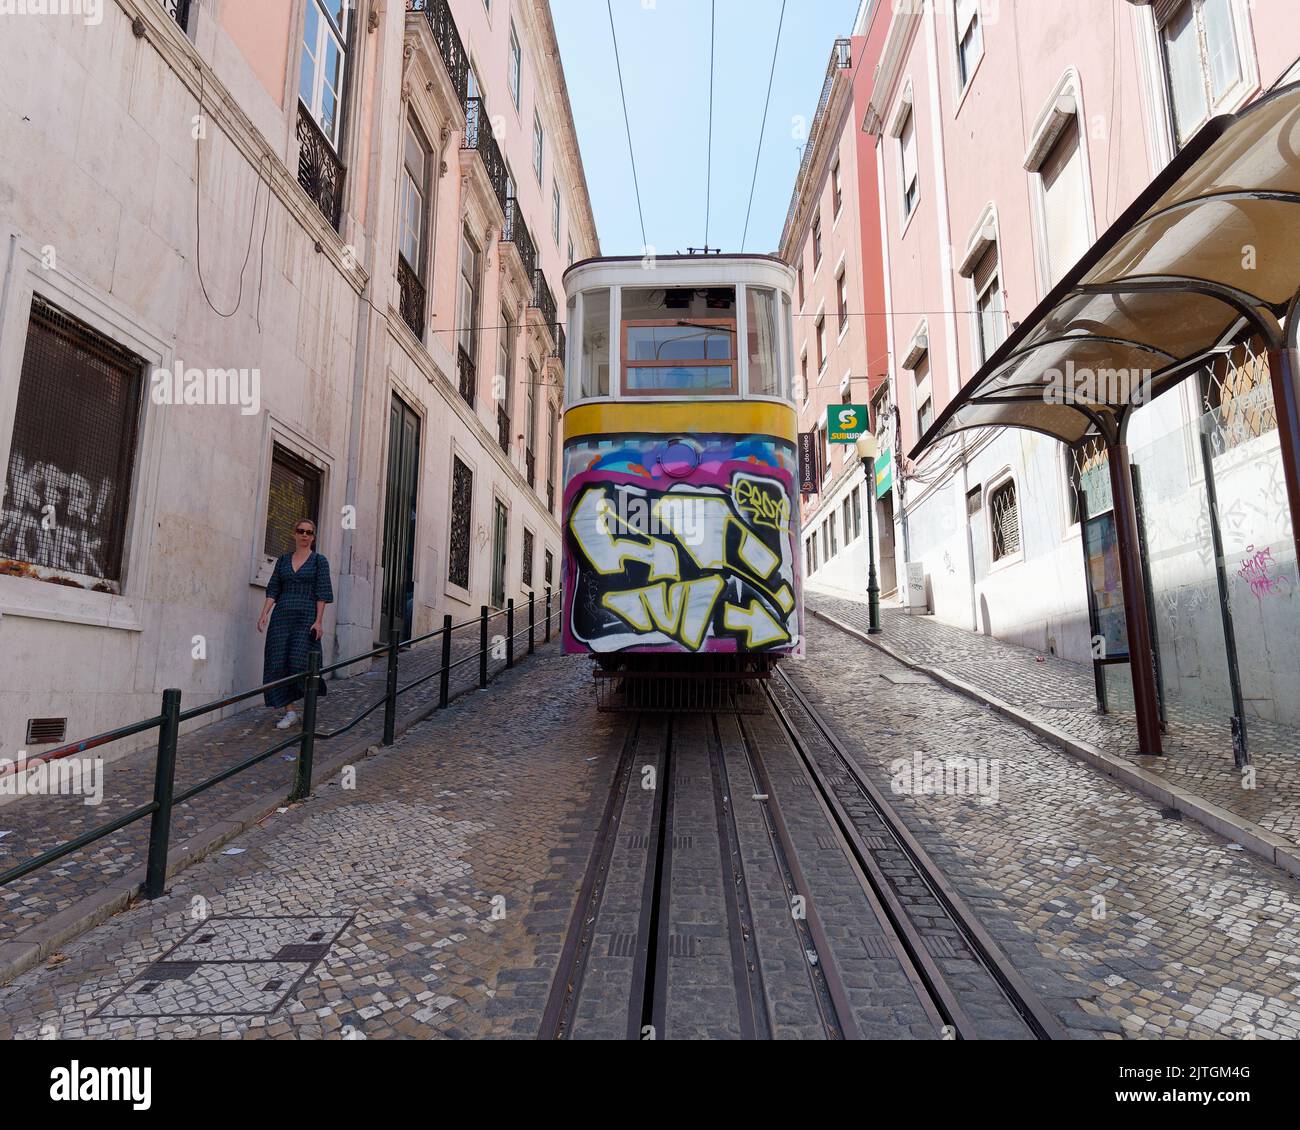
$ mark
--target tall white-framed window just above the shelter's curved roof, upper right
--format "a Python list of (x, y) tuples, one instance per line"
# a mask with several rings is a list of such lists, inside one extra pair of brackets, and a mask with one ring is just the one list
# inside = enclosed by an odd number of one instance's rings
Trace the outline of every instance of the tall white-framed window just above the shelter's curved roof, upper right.
[(1210, 114), (1230, 107), (1245, 81), (1232, 0), (1157, 0), (1153, 10), (1182, 147)]

